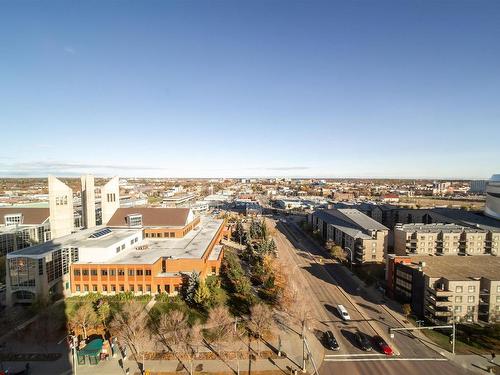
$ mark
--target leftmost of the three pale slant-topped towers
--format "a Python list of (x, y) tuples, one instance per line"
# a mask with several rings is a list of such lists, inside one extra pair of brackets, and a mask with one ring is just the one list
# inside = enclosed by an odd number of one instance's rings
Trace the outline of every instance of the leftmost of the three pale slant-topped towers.
[(49, 212), (51, 239), (73, 232), (73, 190), (54, 176), (49, 176)]

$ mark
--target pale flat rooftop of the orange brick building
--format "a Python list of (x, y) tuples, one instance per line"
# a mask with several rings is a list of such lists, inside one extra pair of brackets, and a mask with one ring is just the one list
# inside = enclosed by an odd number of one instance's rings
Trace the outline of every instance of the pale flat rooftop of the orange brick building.
[[(183, 238), (147, 238), (138, 244), (136, 249), (122, 251), (99, 264), (153, 264), (161, 257), (200, 259), (223, 224), (224, 220), (203, 216), (200, 225)], [(143, 250), (137, 250), (137, 248)], [(220, 252), (217, 246), (212, 251)]]

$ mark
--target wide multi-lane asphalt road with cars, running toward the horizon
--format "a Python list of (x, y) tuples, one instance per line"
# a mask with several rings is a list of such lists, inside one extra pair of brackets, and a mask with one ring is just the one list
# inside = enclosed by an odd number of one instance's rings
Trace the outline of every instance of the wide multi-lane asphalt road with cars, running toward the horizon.
[[(300, 272), (302, 287), (312, 293), (310, 296), (314, 329), (318, 335), (331, 330), (341, 349), (326, 351), (322, 374), (333, 374), (349, 370), (349, 374), (401, 374), (443, 373), (465, 374), (419, 339), (408, 333), (396, 333), (394, 340), (387, 336), (387, 328), (400, 327), (391, 315), (381, 295), (369, 294), (352, 279), (350, 272), (338, 263), (320, 264), (316, 260), (325, 255), (324, 250), (311, 241), (289, 219), (277, 223), (276, 243), (280, 257), (291, 262), (292, 272)], [(298, 275), (297, 275), (298, 276)], [(350, 322), (344, 322), (336, 311), (337, 304), (344, 305)], [(379, 334), (400, 354), (395, 357), (359, 349), (354, 332), (360, 330), (370, 336)], [(353, 372), (354, 371), (354, 372)], [(357, 372), (356, 372), (357, 371)]]

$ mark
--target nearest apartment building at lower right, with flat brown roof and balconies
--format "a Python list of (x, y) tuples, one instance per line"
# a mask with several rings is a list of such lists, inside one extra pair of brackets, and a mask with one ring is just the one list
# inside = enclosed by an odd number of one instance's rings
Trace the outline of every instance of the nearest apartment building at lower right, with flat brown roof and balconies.
[(388, 256), (387, 291), (436, 324), (500, 321), (500, 258)]

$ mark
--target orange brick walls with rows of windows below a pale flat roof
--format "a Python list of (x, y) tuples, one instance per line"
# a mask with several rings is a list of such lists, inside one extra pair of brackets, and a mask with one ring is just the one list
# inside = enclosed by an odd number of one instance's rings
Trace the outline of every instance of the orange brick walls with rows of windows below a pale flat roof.
[[(193, 221), (191, 229), (199, 223)], [(150, 231), (150, 229), (147, 229)], [(160, 229), (159, 229), (160, 230)], [(152, 232), (150, 232), (152, 233)], [(222, 258), (221, 251), (218, 259), (209, 260), (215, 245), (219, 244), (229, 233), (228, 228), (222, 225), (199, 259), (181, 258), (158, 259), (153, 264), (78, 264), (71, 265), (71, 293), (99, 292), (114, 294), (133, 292), (135, 294), (176, 294), (182, 284), (181, 275), (164, 276), (162, 273), (190, 273), (200, 272), (204, 279), (209, 275), (218, 275)], [(147, 250), (145, 250), (147, 251)]]

